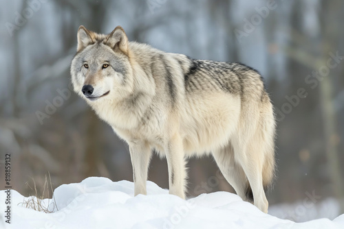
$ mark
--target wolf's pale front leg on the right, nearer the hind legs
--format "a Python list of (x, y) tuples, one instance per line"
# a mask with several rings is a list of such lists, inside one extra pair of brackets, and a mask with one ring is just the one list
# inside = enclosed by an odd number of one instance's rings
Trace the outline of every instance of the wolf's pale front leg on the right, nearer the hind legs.
[(166, 145), (166, 160), (169, 167), (169, 193), (185, 199), (185, 160), (182, 139), (175, 134)]

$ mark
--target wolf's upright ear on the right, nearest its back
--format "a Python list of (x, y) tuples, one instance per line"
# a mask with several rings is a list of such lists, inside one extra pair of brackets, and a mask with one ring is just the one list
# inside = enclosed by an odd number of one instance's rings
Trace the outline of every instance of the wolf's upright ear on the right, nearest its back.
[(126, 55), (128, 54), (127, 34), (125, 34), (125, 30), (120, 26), (116, 27), (111, 34), (107, 35), (105, 44), (109, 45), (111, 49), (120, 49)]

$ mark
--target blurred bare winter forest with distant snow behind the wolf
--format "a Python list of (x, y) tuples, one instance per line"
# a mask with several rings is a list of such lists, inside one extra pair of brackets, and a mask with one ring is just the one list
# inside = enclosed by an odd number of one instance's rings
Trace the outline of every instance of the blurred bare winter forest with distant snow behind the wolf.
[[(344, 1), (0, 2), (1, 189), (5, 154), (23, 195), (48, 171), (53, 188), (89, 176), (132, 181), (126, 143), (69, 86), (78, 26), (121, 25), (129, 40), (260, 71), (278, 119), (272, 212), (295, 221), (344, 212)], [(189, 196), (233, 192), (213, 158), (188, 167)], [(168, 188), (166, 160), (153, 157), (149, 180)]]

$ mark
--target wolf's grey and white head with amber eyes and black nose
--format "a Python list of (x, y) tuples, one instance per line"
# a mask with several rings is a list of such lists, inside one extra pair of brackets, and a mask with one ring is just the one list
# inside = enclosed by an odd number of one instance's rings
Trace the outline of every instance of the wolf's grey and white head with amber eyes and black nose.
[(128, 45), (127, 35), (120, 26), (104, 35), (81, 25), (71, 65), (74, 91), (90, 104), (129, 95), (133, 76)]

